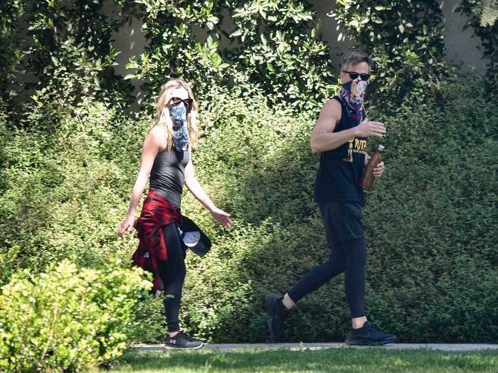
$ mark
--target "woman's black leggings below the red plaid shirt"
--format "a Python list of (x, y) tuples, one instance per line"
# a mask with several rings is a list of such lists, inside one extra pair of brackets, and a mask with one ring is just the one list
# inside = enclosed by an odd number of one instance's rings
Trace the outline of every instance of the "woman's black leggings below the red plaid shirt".
[(181, 304), (181, 288), (184, 286), (186, 274), (184, 249), (181, 238), (176, 228), (176, 223), (171, 223), (162, 228), (168, 259), (159, 261), (159, 276), (164, 283), (164, 313), (168, 323), (169, 333), (180, 330), (179, 312)]

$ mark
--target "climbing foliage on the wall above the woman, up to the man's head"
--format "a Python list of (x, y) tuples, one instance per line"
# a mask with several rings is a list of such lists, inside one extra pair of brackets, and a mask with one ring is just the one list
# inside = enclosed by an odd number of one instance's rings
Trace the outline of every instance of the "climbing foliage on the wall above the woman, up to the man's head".
[(144, 22), (149, 45), (128, 77), (149, 97), (184, 77), (206, 98), (213, 85), (260, 87), (272, 104), (316, 107), (336, 82), (310, 1), (117, 2)]

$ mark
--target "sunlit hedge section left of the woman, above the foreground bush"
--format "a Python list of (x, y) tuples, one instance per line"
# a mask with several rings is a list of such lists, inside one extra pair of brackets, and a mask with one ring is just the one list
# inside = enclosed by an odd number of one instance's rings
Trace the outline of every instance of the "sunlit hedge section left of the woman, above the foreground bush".
[(51, 120), (44, 114), (33, 109), (30, 130), (6, 130), (0, 149), (0, 245), (11, 252), (4, 260), (42, 271), (63, 258), (99, 266), (120, 248), (129, 254), (132, 247), (116, 241), (127, 209), (118, 191), (129, 193), (149, 121), (127, 122), (103, 104)]

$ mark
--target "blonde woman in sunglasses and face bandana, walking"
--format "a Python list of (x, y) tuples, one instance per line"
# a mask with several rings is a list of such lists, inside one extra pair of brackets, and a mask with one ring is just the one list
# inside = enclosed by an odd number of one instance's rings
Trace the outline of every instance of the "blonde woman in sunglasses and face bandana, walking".
[[(164, 291), (166, 347), (191, 349), (203, 347), (203, 342), (193, 340), (179, 326), (181, 289), (186, 274), (179, 229), (184, 184), (218, 223), (225, 228), (233, 225), (230, 215), (214, 205), (194, 176), (191, 148), (199, 136), (197, 109), (191, 87), (184, 80), (169, 80), (163, 85), (154, 126), (144, 141), (127, 217), (117, 228), (121, 238), (132, 227), (137, 229), (140, 243), (133, 255), (134, 262), (154, 273), (155, 291)], [(135, 221), (137, 204), (149, 179), (149, 193), (142, 214)]]

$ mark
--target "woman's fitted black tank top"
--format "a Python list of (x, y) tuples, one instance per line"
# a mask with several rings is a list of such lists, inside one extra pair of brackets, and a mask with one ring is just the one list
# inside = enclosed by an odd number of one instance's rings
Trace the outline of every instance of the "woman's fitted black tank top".
[(181, 192), (184, 190), (184, 170), (189, 163), (190, 153), (177, 151), (171, 147), (170, 151), (163, 150), (157, 153), (154, 165), (150, 172), (150, 190), (155, 190), (174, 205), (180, 208)]

